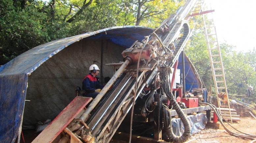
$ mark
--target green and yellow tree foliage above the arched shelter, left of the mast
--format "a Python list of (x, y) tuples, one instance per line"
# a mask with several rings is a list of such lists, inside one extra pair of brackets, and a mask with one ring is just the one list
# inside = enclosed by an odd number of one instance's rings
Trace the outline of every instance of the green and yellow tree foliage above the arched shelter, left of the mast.
[(0, 65), (37, 45), (64, 37), (123, 25), (157, 27), (183, 3), (182, 0), (1, 0)]

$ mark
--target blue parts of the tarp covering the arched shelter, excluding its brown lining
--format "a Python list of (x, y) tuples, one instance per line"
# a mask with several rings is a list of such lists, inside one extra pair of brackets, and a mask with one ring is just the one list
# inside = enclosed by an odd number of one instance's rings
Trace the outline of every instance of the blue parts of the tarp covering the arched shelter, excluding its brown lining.
[[(26, 98), (27, 89), (29, 85), (28, 82), (30, 78), (29, 75), (32, 72), (34, 72), (37, 68), (39, 68), (41, 65), (46, 64), (47, 60), (49, 60), (50, 58), (52, 59), (52, 57), (54, 56), (56, 57), (57, 53), (59, 53), (62, 50), (64, 51), (66, 47), (76, 42), (78, 43), (82, 39), (87, 39), (87, 40), (88, 39), (89, 40), (105, 39), (110, 42), (113, 42), (116, 45), (120, 45), (124, 48), (129, 48), (136, 40), (141, 41), (144, 39), (144, 36), (147, 36), (152, 32), (153, 32), (153, 29), (151, 28), (137, 27), (137, 26), (111, 27), (111, 28), (98, 30), (95, 32), (88, 32), (88, 33), (48, 42), (43, 45), (39, 45), (35, 48), (32, 48), (24, 52), (23, 54), (17, 56), (10, 62), (1, 66), (0, 67), (0, 142), (1, 143), (14, 142), (18, 134), (21, 133), (20, 131), (21, 131), (21, 124), (23, 119), (25, 98)], [(118, 54), (121, 54), (121, 53), (118, 53)], [(65, 57), (65, 58), (71, 59), (72, 57)], [(46, 68), (46, 70), (51, 70), (51, 69)], [(186, 73), (187, 71), (188, 70), (185, 70)], [(62, 71), (62, 72), (65, 72), (65, 71)], [(186, 79), (187, 83), (193, 82), (195, 77), (194, 73), (195, 72), (193, 72), (193, 70), (189, 71), (186, 78), (188, 78), (190, 81), (189, 80), (187, 81)], [(197, 82), (194, 82), (194, 84), (197, 84)], [(52, 85), (48, 85), (48, 86), (52, 86)], [(36, 91), (36, 90), (33, 90), (33, 91)], [(37, 95), (37, 93), (34, 93), (34, 94)], [(39, 97), (39, 99), (41, 99), (41, 97)], [(38, 106), (40, 106), (40, 104), (38, 104)]]

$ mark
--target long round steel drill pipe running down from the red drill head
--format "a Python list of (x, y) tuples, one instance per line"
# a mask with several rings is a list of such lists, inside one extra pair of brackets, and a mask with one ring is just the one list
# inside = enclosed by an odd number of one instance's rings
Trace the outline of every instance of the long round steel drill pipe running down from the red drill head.
[(129, 60), (126, 60), (120, 68), (117, 70), (117, 72), (113, 75), (113, 77), (107, 82), (107, 84), (102, 88), (100, 93), (97, 95), (97, 97), (92, 101), (92, 103), (88, 106), (88, 108), (85, 110), (85, 112), (79, 117), (79, 119), (82, 119), (83, 121), (86, 121), (89, 117), (89, 114), (92, 112), (92, 110), (95, 108), (95, 106), (100, 102), (100, 99), (105, 95), (105, 93), (108, 91), (108, 89), (113, 85), (113, 83), (117, 80), (117, 78), (121, 75), (121, 73), (125, 70), (125, 68), (130, 63)]

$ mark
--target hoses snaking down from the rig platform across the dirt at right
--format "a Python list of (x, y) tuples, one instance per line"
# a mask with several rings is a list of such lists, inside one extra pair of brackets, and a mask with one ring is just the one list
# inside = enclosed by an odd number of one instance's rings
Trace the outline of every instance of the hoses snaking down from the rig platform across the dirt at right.
[(233, 135), (233, 136), (236, 136), (236, 137), (239, 137), (239, 138), (255, 140), (256, 135), (238, 134), (238, 133), (235, 133), (235, 132), (230, 131), (230, 130), (224, 125), (224, 123), (222, 122), (222, 119), (221, 119), (220, 116), (219, 116), (219, 112), (213, 107), (212, 104), (209, 104), (209, 103), (206, 103), (206, 102), (202, 102), (201, 104), (209, 105), (209, 106), (213, 109), (213, 111), (216, 113), (216, 116), (217, 116), (217, 118), (218, 118), (220, 124), (223, 126), (223, 128), (227, 131), (228, 134)]

